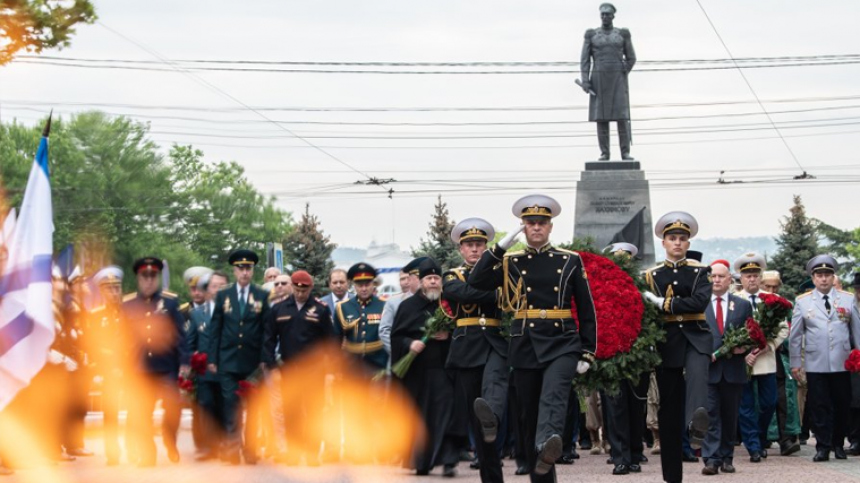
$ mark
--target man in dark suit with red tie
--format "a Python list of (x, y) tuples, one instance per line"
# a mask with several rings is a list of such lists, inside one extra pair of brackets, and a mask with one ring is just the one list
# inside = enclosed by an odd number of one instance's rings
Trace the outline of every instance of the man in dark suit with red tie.
[[(726, 330), (743, 327), (747, 318), (752, 317), (752, 305), (729, 293), (732, 275), (726, 260), (717, 260), (711, 264), (711, 282), (713, 295), (705, 317), (714, 334), (716, 351), (723, 345), (723, 334)], [(738, 408), (744, 384), (747, 382), (743, 358), (747, 350), (745, 347), (738, 347), (729, 357), (717, 359), (711, 356), (711, 367), (708, 371), (710, 427), (702, 445), (702, 459), (705, 461), (703, 475), (716, 475), (720, 470), (723, 473), (735, 472), (732, 460), (737, 439)]]

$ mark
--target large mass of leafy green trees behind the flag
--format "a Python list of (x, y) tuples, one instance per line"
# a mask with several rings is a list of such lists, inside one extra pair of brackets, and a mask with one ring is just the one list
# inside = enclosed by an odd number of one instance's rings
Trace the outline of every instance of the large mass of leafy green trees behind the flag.
[[(99, 112), (52, 123), (54, 247), (75, 244), (85, 273), (114, 263), (129, 274), (136, 258), (157, 256), (170, 264), (170, 288), (184, 293), (185, 268), (227, 268), (231, 250), (262, 254), (265, 242), (289, 232), (289, 214), (261, 195), (238, 163), (204, 163), (191, 146), (174, 145), (164, 156), (147, 132)], [(40, 126), (0, 125), (0, 172), (11, 206), (21, 203), (40, 135)], [(127, 276), (124, 288), (133, 287)]]

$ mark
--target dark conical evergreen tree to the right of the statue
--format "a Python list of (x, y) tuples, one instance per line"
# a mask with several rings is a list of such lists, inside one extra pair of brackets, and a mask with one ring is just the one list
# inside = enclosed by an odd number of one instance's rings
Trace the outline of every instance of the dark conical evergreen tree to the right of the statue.
[(806, 216), (806, 208), (799, 195), (794, 196), (794, 206), (789, 216), (780, 222), (782, 233), (776, 238), (777, 252), (770, 266), (779, 270), (782, 278), (782, 294), (793, 297), (800, 285), (809, 278), (806, 263), (818, 254), (818, 232), (813, 221)]

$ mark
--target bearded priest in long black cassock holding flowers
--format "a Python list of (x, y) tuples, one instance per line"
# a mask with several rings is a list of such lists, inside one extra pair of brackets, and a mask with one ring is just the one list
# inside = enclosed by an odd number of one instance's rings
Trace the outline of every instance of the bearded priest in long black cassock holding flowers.
[(454, 379), (445, 369), (451, 340), (448, 331), (437, 332), (422, 342), (424, 327), (439, 307), (442, 296), (442, 269), (433, 259), (419, 265), (421, 288), (403, 301), (391, 330), (391, 360), (396, 362), (410, 351), (415, 361), (403, 377), (427, 429), (426, 440), (413, 450), (416, 474), (427, 475), (443, 465), (443, 476), (456, 476), (458, 441), (454, 428)]

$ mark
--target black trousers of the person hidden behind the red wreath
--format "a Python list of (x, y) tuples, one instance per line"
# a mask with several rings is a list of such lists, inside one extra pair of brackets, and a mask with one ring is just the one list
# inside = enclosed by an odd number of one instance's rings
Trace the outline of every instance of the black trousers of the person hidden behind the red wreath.
[(638, 464), (645, 448), (645, 401), (648, 398), (648, 374), (632, 381), (622, 381), (617, 394), (606, 394), (603, 401), (604, 428), (609, 436), (612, 463)]

